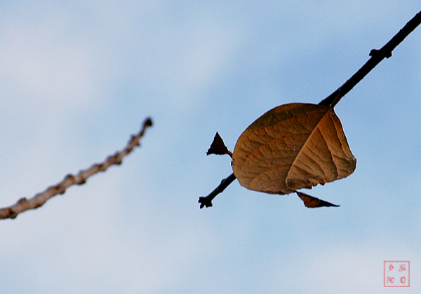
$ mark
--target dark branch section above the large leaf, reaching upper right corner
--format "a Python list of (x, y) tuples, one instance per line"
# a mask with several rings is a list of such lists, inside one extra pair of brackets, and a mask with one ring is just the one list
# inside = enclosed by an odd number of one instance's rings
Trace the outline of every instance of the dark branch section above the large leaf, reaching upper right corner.
[(323, 99), (319, 104), (326, 105), (326, 106), (335, 106), (338, 104), (340, 99), (344, 97), (352, 88), (362, 80), (367, 73), (369, 73), (372, 69), (375, 68), (377, 64), (379, 64), (383, 59), (389, 58), (392, 56), (392, 51), (399, 45), (404, 38), (406, 38), (411, 31), (413, 31), (418, 25), (421, 23), (421, 11), (417, 13), (410, 20), (405, 27), (403, 27), (398, 34), (396, 34), (386, 45), (384, 45), (380, 50), (371, 50), (370, 56), (371, 58), (368, 59), (368, 62), (364, 64), (359, 71), (354, 73), (354, 76), (349, 78), (342, 86), (338, 88), (335, 92), (330, 94), (326, 99)]

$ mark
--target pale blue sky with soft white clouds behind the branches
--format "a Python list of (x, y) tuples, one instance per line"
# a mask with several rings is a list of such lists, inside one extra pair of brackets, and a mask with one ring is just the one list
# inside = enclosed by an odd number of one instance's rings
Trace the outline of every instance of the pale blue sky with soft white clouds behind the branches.
[[(281, 104), (317, 104), (420, 11), (383, 1), (1, 1), (0, 207), (121, 150), (120, 166), (0, 221), (1, 293), (421, 292), (421, 28), (335, 106), (354, 174), (303, 190), (206, 156)], [(410, 287), (385, 288), (408, 260)]]

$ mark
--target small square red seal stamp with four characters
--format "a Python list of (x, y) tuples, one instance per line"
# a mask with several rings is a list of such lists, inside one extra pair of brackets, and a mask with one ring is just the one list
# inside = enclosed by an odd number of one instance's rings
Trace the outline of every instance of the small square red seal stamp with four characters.
[(409, 287), (409, 261), (385, 261), (383, 265), (385, 287)]

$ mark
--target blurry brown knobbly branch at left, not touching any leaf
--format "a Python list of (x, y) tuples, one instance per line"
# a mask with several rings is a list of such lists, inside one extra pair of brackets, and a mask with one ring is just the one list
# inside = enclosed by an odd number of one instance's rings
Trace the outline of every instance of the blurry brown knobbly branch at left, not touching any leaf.
[(3, 209), (0, 209), (0, 219), (16, 218), (18, 214), (24, 211), (27, 211), (29, 209), (37, 209), (55, 195), (64, 194), (66, 192), (66, 189), (70, 186), (73, 186), (75, 184), (82, 185), (83, 183), (86, 183), (86, 180), (90, 176), (93, 176), (98, 172), (105, 172), (105, 170), (111, 165), (121, 165), (123, 158), (126, 155), (128, 155), (128, 153), (131, 153), (131, 151), (133, 151), (133, 148), (135, 148), (136, 146), (140, 146), (140, 138), (142, 138), (143, 134), (145, 134), (147, 127), (151, 126), (152, 120), (150, 118), (147, 118), (143, 123), (140, 132), (136, 135), (132, 135), (130, 141), (128, 141), (126, 148), (124, 148), (122, 151), (116, 152), (114, 153), (114, 155), (109, 155), (109, 157), (100, 164), (95, 164), (89, 167), (88, 169), (81, 170), (79, 174), (76, 174), (76, 176), (68, 174), (67, 176), (65, 176), (65, 179), (63, 179), (60, 183), (58, 183), (55, 186), (48, 187), (46, 190), (44, 190), (44, 192), (36, 194), (29, 200), (23, 197), (20, 198), (20, 200), (18, 200), (16, 204), (13, 204), (10, 207), (4, 207)]

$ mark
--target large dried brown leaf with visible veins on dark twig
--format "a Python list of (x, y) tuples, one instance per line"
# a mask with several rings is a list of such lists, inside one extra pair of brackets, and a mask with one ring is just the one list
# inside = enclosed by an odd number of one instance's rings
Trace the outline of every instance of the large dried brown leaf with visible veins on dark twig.
[(241, 186), (272, 194), (342, 179), (355, 167), (333, 107), (300, 103), (255, 120), (236, 142), (232, 160)]

